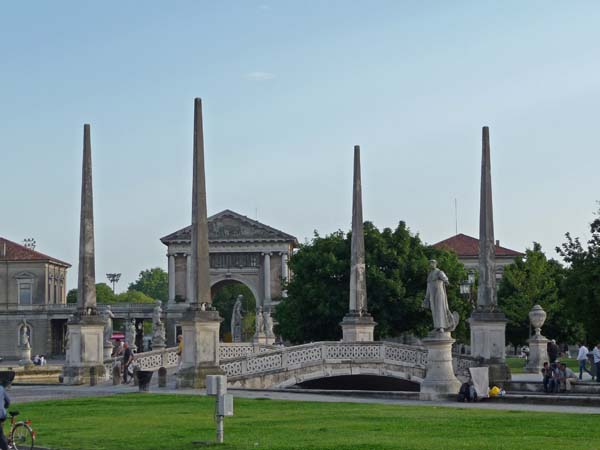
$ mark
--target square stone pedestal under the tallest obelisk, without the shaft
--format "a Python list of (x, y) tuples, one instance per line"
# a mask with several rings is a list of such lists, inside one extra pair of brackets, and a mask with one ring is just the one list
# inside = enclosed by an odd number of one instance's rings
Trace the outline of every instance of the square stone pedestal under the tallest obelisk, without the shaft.
[(219, 367), (218, 311), (190, 309), (181, 321), (183, 355), (177, 388), (204, 388), (207, 375), (222, 375)]

